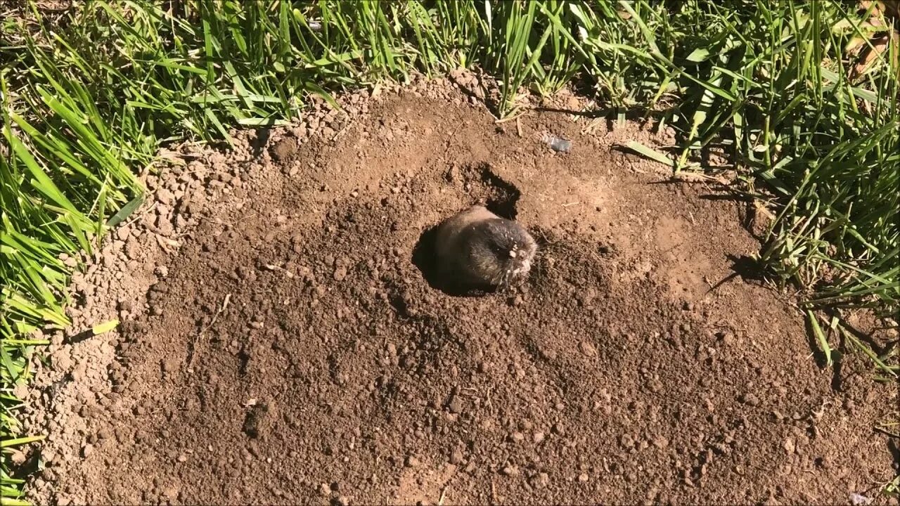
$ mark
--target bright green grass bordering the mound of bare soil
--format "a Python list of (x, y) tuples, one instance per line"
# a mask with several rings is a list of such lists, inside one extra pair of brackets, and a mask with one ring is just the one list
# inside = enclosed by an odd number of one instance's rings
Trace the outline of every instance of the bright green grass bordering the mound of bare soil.
[[(678, 149), (635, 148), (675, 171), (703, 170), (705, 150), (724, 150), (745, 194), (777, 215), (761, 265), (799, 288), (824, 356), (859, 351), (880, 375), (900, 372), (896, 349), (869, 348), (841, 318), (900, 310), (896, 46), (847, 78), (845, 49), (869, 43), (871, 11), (787, 0), (97, 0), (61, 14), (21, 4), (0, 6), (4, 440), (23, 436), (14, 386), (28, 384), (26, 357), (45, 342), (35, 331), (67, 325), (73, 267), (60, 254), (92, 251), (133, 210), (158, 146), (229, 140), (230, 128), (301, 114), (310, 95), (461, 66), (497, 78), (500, 117), (525, 90), (575, 83), (620, 120), (643, 110), (674, 127)], [(21, 500), (5, 449), (0, 468), (4, 501)]]

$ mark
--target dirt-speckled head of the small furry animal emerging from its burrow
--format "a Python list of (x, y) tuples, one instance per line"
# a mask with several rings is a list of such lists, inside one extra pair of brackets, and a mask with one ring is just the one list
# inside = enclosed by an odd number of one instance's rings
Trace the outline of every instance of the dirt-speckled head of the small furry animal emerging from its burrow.
[(537, 243), (515, 221), (496, 218), (473, 227), (473, 261), (491, 285), (507, 288), (528, 276)]

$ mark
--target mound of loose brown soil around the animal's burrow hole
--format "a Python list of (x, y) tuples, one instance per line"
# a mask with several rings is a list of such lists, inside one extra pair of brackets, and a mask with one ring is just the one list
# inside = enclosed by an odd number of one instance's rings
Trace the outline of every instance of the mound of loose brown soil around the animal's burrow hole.
[[(613, 149), (667, 140), (497, 124), (443, 79), (343, 100), (148, 176), (51, 336), (37, 501), (896, 503), (896, 385), (816, 365), (752, 206)], [(475, 202), (539, 239), (518, 293), (428, 282), (428, 230)]]

